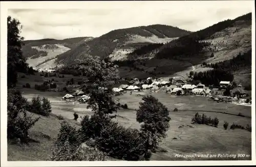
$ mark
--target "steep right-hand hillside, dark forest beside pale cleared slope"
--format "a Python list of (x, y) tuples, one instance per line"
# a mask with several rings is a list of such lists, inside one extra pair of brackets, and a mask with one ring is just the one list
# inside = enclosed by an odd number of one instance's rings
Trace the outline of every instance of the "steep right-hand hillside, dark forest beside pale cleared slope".
[[(244, 43), (246, 43), (244, 45)], [(210, 57), (211, 52), (218, 54), (223, 51), (248, 51), (251, 48), (251, 13), (233, 20), (221, 21), (206, 29), (183, 36), (163, 45), (156, 58), (188, 60), (199, 64)], [(208, 53), (208, 54), (207, 54)], [(232, 53), (232, 59), (238, 52)], [(225, 53), (226, 54), (226, 53)], [(199, 58), (196, 58), (197, 55)], [(220, 61), (220, 60), (219, 60)]]

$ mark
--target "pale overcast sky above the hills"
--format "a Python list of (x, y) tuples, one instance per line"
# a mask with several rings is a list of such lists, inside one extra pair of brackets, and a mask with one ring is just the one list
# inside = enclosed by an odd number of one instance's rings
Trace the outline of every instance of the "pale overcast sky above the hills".
[(112, 30), (151, 24), (194, 32), (252, 12), (253, 5), (253, 1), (130, 1), (116, 6), (117, 2), (100, 3), (90, 9), (9, 9), (8, 15), (22, 23), (25, 40), (65, 39), (99, 37)]

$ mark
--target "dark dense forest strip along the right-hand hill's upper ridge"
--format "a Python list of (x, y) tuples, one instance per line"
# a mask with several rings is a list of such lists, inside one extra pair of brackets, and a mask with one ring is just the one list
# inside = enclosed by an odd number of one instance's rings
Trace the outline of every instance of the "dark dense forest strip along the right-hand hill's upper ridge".
[[(228, 29), (229, 27), (239, 26), (236, 24), (238, 22), (240, 22), (240, 24), (251, 25), (251, 15), (251, 13), (248, 13), (233, 20), (228, 19), (221, 21), (206, 29), (170, 41), (159, 49), (156, 57), (159, 59), (172, 59), (174, 57), (182, 58), (205, 52), (203, 48), (211, 45), (211, 43), (204, 42), (204, 40), (214, 39), (216, 38), (216, 36), (214, 36), (216, 33)], [(221, 36), (222, 34), (220, 34), (220, 37)]]

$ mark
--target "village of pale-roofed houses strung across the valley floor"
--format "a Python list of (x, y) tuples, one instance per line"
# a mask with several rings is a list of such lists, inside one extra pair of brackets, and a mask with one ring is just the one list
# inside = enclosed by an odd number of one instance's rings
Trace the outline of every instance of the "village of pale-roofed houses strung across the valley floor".
[[(120, 96), (126, 93), (133, 94), (133, 92), (150, 92), (150, 94), (164, 92), (170, 95), (186, 96), (196, 95), (209, 97), (209, 100), (217, 102), (232, 102), (241, 105), (250, 105), (251, 100), (248, 99), (248, 94), (243, 90), (242, 85), (232, 86), (230, 81), (220, 81), (220, 87), (209, 86), (199, 83), (197, 85), (188, 84), (187, 81), (180, 77), (173, 77), (166, 81), (163, 78), (153, 79), (148, 77), (145, 80), (132, 78), (127, 81), (127, 84), (122, 84), (114, 88), (98, 88), (104, 91), (112, 91), (115, 96)], [(229, 88), (229, 95), (225, 95), (225, 90)], [(224, 91), (223, 91), (224, 90)], [(66, 94), (61, 100), (67, 102), (86, 103), (90, 95), (86, 95), (86, 91), (77, 89), (71, 94)], [(138, 94), (140, 95), (140, 94)]]

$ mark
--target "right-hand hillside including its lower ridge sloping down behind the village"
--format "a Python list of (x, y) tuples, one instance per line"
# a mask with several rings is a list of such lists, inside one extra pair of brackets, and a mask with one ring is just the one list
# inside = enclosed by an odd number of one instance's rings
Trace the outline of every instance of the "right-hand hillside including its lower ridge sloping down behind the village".
[[(166, 44), (146, 44), (128, 54), (129, 61), (115, 61), (123, 76), (154, 75), (188, 78), (189, 72), (212, 70), (203, 62), (218, 63), (251, 50), (251, 13), (226, 20)], [(240, 71), (247, 67), (241, 66)], [(135, 72), (136, 71), (136, 72)], [(140, 73), (139, 73), (140, 72)], [(135, 74), (136, 73), (136, 74)], [(248, 70), (246, 74), (248, 74)], [(235, 80), (236, 80), (236, 76)], [(246, 75), (246, 76), (249, 76)], [(239, 75), (238, 80), (243, 76)], [(248, 80), (249, 77), (246, 78)]]

